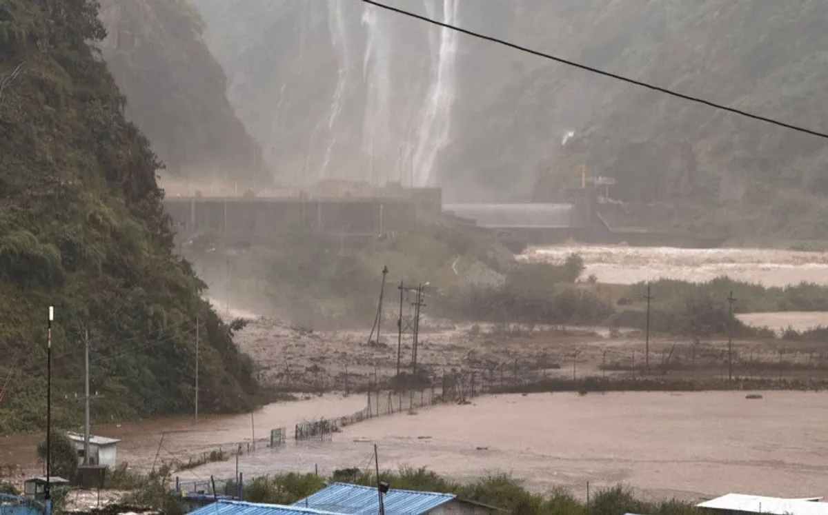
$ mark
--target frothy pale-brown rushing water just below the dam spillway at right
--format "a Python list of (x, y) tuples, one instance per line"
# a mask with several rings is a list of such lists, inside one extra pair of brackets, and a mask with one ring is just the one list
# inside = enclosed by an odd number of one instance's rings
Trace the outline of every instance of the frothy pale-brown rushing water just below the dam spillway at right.
[(595, 274), (599, 282), (615, 284), (662, 278), (704, 282), (726, 275), (765, 286), (786, 286), (803, 281), (828, 285), (828, 253), (819, 252), (561, 245), (530, 248), (521, 258), (563, 262), (571, 253), (584, 258), (584, 277)]

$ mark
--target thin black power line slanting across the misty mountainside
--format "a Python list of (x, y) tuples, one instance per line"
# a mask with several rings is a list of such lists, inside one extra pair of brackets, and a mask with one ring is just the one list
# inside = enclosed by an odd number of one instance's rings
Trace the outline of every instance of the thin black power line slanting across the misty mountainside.
[(485, 34), (481, 34), (475, 31), (469, 31), (468, 29), (464, 29), (460, 26), (450, 25), (449, 23), (438, 22), (430, 17), (421, 16), (414, 12), (405, 11), (403, 9), (399, 9), (397, 7), (391, 7), (389, 5), (383, 4), (381, 2), (375, 2), (374, 0), (362, 0), (362, 2), (367, 3), (369, 5), (373, 5), (374, 7), (379, 7), (381, 9), (385, 9), (387, 11), (396, 12), (397, 14), (401, 14), (402, 16), (415, 18), (420, 20), (421, 22), (431, 23), (431, 25), (441, 26), (443, 28), (450, 29), (452, 31), (458, 31), (462, 34), (467, 36), (476, 37), (478, 39), (482, 39), (485, 41), (490, 41), (492, 43), (497, 43), (498, 45), (508, 46), (509, 48), (513, 48), (517, 51), (522, 51), (527, 54), (537, 55), (538, 57), (543, 57), (548, 60), (554, 60), (562, 65), (572, 66), (574, 68), (579, 68), (580, 70), (586, 70), (594, 74), (604, 75), (604, 77), (609, 77), (610, 79), (620, 80), (622, 82), (626, 82), (628, 84), (636, 85), (640, 88), (652, 89), (652, 91), (657, 91), (662, 94), (667, 94), (672, 97), (676, 97), (678, 99), (688, 100), (690, 102), (701, 103), (711, 108), (721, 109), (723, 111), (727, 111), (729, 113), (739, 114), (740, 116), (744, 116), (746, 118), (753, 118), (754, 120), (759, 120), (760, 122), (770, 123), (772, 125), (777, 125), (778, 127), (791, 129), (792, 131), (797, 132), (804, 132), (806, 134), (811, 134), (811, 136), (822, 137), (828, 139), (828, 133), (826, 132), (818, 132), (813, 129), (800, 127), (798, 125), (792, 125), (791, 123), (784, 123), (780, 122), (779, 120), (775, 120), (773, 118), (764, 117), (758, 114), (749, 113), (747, 111), (743, 111), (737, 108), (730, 108), (721, 103), (711, 102), (710, 100), (700, 99), (699, 97), (694, 97), (688, 94), (678, 93), (677, 91), (673, 91), (672, 89), (662, 88), (660, 86), (649, 84), (647, 82), (642, 82), (636, 79), (630, 79), (629, 77), (624, 77), (623, 75), (617, 75), (611, 73), (609, 71), (599, 70), (597, 68), (593, 68), (592, 66), (582, 65), (572, 60), (566, 60), (562, 57), (557, 57), (556, 55), (546, 54), (542, 51), (532, 50), (531, 48), (527, 48), (526, 46), (516, 45), (515, 43), (510, 43), (509, 41), (505, 41), (502, 39), (498, 39), (497, 37), (493, 36), (486, 36)]

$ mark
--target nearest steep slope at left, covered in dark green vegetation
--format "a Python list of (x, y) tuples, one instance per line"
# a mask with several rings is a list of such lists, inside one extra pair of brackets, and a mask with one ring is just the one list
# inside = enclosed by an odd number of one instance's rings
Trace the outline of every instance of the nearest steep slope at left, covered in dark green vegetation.
[(50, 305), (58, 425), (82, 414), (86, 330), (96, 418), (190, 412), (196, 338), (203, 410), (244, 409), (257, 393), (173, 253), (156, 157), (86, 43), (103, 37), (97, 15), (92, 0), (0, 2), (2, 434), (45, 422)]

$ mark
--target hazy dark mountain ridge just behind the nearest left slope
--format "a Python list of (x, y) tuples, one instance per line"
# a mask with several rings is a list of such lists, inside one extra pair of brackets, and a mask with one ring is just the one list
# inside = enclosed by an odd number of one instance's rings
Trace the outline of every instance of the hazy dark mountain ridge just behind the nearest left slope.
[(103, 58), (127, 118), (173, 175), (269, 180), (261, 150), (225, 96), (226, 78), (184, 0), (103, 0)]

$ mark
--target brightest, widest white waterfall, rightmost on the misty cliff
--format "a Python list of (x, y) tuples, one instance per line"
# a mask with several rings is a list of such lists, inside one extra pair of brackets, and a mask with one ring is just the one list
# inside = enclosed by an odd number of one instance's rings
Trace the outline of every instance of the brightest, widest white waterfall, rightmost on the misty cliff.
[[(435, 16), (436, 3), (442, 4), (441, 20), (454, 25), (457, 22), (458, 0), (424, 0), (426, 12)], [(433, 29), (431, 29), (433, 30)], [(447, 28), (437, 29), (439, 41), (430, 37), (432, 66), (431, 84), (423, 105), (416, 133), (416, 150), (412, 158), (414, 186), (436, 183), (437, 156), (450, 141), (451, 106), (456, 94), (455, 60), (459, 42), (458, 33)], [(431, 36), (431, 35), (430, 35)]]

